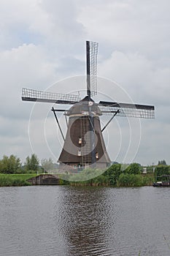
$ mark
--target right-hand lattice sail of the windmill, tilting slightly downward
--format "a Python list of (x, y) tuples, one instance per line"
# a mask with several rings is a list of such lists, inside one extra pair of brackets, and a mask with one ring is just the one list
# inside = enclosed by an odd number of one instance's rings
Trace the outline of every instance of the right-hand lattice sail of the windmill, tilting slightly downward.
[(115, 111), (120, 110), (117, 116), (128, 116), (136, 118), (155, 118), (155, 108), (151, 105), (139, 105), (129, 103), (104, 102), (98, 103), (103, 114), (113, 115)]

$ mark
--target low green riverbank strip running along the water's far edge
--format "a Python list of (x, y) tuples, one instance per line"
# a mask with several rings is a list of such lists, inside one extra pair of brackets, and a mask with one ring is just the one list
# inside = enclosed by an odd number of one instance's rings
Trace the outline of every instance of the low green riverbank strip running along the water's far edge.
[[(45, 176), (45, 177), (44, 177)], [(47, 176), (47, 177), (46, 177)], [(143, 187), (152, 186), (155, 178), (152, 174), (126, 174), (120, 176), (117, 180), (113, 180), (113, 176), (101, 174), (96, 178), (89, 178), (88, 180), (81, 180), (82, 174), (80, 173), (80, 181), (74, 181), (74, 175), (58, 175), (60, 178), (54, 182), (53, 175), (39, 175), (36, 173), (27, 174), (0, 174), (0, 187), (20, 187), (31, 185), (71, 185), (71, 186), (85, 186), (85, 187)], [(85, 177), (83, 177), (85, 178)], [(87, 176), (86, 176), (87, 178)], [(35, 182), (36, 180), (39, 182)], [(42, 180), (40, 182), (40, 180)], [(113, 182), (114, 181), (114, 182)]]

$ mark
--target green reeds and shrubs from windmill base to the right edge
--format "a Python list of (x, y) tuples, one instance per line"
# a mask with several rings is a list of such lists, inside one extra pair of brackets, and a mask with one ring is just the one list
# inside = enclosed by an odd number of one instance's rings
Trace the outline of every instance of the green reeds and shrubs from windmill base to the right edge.
[[(74, 175), (63, 174), (61, 178), (69, 180), (69, 184), (80, 186), (114, 186), (114, 187), (141, 187), (150, 186), (153, 182), (162, 180), (163, 175), (170, 175), (169, 165), (147, 167), (147, 174), (142, 173), (143, 167), (138, 163), (110, 166), (104, 173), (101, 170), (83, 170), (74, 181)], [(96, 178), (93, 178), (96, 176)]]

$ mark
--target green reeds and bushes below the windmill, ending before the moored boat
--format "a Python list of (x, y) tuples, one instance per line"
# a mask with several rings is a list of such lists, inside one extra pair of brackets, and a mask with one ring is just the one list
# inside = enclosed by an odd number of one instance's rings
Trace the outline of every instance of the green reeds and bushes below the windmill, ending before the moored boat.
[(120, 165), (112, 165), (105, 172), (102, 170), (85, 169), (77, 175), (64, 174), (61, 178), (73, 186), (104, 186), (104, 187), (142, 187), (150, 186), (155, 181), (153, 173), (143, 175), (140, 171), (130, 173), (121, 170)]

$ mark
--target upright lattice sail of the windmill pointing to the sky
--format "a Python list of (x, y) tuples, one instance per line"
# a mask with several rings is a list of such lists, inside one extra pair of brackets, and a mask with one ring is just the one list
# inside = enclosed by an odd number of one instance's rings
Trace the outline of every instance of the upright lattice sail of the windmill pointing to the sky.
[(97, 94), (97, 53), (98, 42), (86, 41), (87, 91), (89, 98)]

